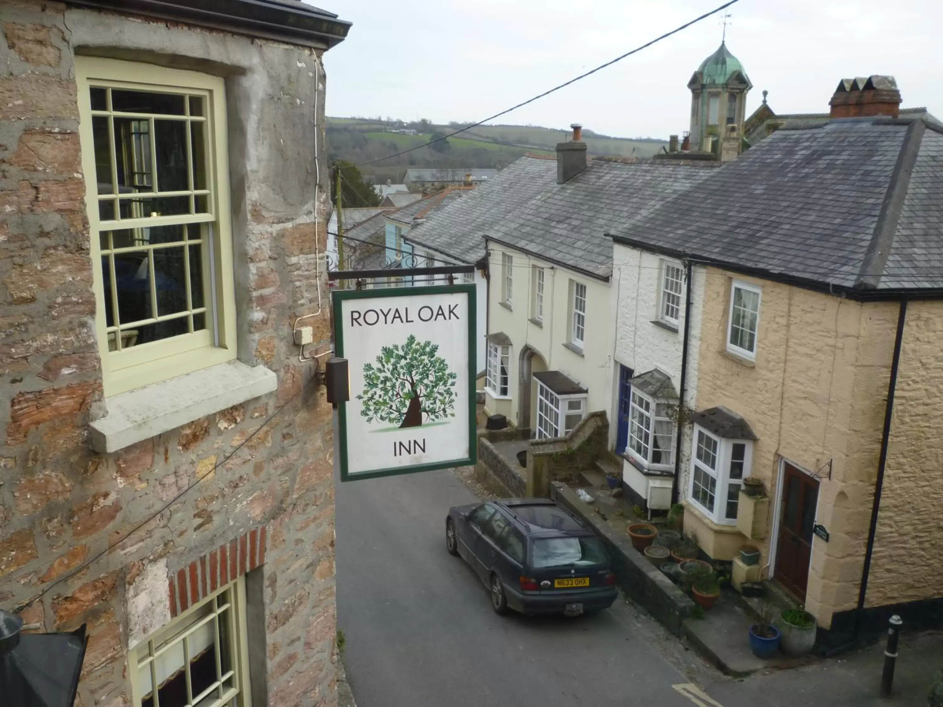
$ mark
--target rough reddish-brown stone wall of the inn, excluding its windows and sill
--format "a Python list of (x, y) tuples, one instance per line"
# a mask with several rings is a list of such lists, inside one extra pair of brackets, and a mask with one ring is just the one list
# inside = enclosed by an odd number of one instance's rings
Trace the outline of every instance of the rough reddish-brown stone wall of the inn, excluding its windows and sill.
[[(244, 574), (254, 703), (336, 704), (331, 407), (291, 337), (324, 285), (321, 50), (54, 2), (5, 0), (0, 17), (0, 606), (43, 631), (88, 622), (76, 703), (126, 707), (129, 647)], [(90, 447), (107, 403), (76, 53), (223, 76), (238, 359), (277, 376), (271, 393), (108, 454)], [(309, 322), (323, 351), (326, 300)]]

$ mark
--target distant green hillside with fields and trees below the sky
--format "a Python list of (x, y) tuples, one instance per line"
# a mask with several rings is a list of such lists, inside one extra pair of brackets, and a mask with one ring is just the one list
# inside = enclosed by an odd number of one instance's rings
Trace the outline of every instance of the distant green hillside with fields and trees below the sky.
[[(329, 160), (344, 159), (360, 164), (422, 145), (463, 126), (462, 123), (436, 125), (425, 120), (403, 123), (328, 118), (327, 156)], [(393, 129), (416, 130), (417, 134), (387, 132)], [(556, 143), (565, 140), (568, 133), (532, 125), (479, 125), (455, 138), (365, 165), (361, 172), (376, 182), (389, 179), (395, 183), (402, 180), (407, 167), (501, 168), (527, 153), (553, 155)], [(668, 144), (665, 140), (611, 138), (590, 130), (584, 130), (583, 135), (590, 155), (636, 155), (644, 158), (653, 156), (662, 145)]]

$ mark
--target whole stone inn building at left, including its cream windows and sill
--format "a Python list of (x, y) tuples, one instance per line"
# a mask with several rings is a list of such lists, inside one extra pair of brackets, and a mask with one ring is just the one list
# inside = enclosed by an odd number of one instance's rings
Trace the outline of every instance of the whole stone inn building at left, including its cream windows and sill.
[(349, 25), (122, 5), (0, 8), (0, 606), (88, 624), (76, 704), (150, 703), (184, 673), (226, 704), (336, 704), (312, 356), (322, 56)]

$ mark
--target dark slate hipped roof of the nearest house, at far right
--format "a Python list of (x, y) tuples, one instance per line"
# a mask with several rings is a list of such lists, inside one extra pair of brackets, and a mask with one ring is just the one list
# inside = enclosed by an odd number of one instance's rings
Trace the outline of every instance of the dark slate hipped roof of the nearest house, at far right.
[(922, 118), (781, 128), (611, 233), (830, 290), (943, 288), (943, 128)]

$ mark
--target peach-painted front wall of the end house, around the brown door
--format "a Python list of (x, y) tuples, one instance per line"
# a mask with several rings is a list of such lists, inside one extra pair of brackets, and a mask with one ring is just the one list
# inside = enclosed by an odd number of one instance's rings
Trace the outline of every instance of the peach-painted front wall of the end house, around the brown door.
[[(771, 499), (784, 459), (825, 476), (816, 519), (831, 538), (813, 540), (805, 605), (828, 628), (857, 596), (897, 304), (864, 305), (713, 268), (706, 275), (696, 407), (725, 405), (747, 419), (758, 437), (752, 472)], [(735, 277), (763, 288), (754, 362), (726, 352)], [(766, 540), (752, 542), (762, 564), (777, 530), (770, 511)]]

